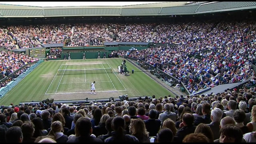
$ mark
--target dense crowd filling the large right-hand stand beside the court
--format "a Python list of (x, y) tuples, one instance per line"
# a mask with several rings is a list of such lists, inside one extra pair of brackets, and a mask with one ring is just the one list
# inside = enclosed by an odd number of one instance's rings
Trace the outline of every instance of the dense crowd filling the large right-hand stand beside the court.
[[(256, 44), (252, 22), (223, 22), (214, 28), (213, 25), (203, 28), (196, 25), (196, 29), (191, 29), (191, 26), (181, 29), (181, 35), (172, 34), (171, 28), (169, 34), (174, 38), (168, 41), (175, 43), (174, 46), (152, 46), (132, 51), (129, 56), (151, 65), (160, 65), (164, 72), (182, 81), (190, 93), (220, 84), (242, 82), (255, 76), (250, 65), (255, 57)], [(166, 63), (168, 65), (161, 66)]]

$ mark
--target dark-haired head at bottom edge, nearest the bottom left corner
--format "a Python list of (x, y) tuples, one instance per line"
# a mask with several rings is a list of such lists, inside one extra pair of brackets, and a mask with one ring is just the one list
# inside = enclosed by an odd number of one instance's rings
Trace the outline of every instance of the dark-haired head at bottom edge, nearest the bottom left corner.
[(21, 128), (18, 126), (9, 128), (5, 134), (5, 140), (7, 143), (22, 143), (23, 136)]

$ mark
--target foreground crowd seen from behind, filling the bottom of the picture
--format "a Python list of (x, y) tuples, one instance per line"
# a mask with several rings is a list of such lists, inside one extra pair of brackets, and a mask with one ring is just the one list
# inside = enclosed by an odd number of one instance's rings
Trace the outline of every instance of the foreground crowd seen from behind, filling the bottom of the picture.
[(196, 96), (4, 106), (0, 142), (256, 142), (256, 87)]

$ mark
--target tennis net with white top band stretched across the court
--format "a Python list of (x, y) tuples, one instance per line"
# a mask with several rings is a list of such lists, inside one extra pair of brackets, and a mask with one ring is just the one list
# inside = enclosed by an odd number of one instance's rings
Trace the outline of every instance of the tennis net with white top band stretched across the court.
[(57, 75), (84, 75), (96, 73), (112, 73), (111, 68), (97, 68), (97, 69), (59, 69)]

